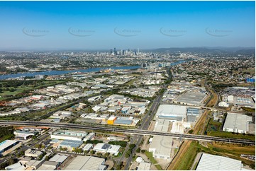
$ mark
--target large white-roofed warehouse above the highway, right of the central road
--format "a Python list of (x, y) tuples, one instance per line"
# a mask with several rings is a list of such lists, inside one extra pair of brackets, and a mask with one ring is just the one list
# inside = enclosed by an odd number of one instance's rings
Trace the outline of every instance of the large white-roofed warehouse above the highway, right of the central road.
[(184, 121), (186, 119), (187, 108), (182, 105), (160, 105), (156, 117), (169, 119), (172, 121)]

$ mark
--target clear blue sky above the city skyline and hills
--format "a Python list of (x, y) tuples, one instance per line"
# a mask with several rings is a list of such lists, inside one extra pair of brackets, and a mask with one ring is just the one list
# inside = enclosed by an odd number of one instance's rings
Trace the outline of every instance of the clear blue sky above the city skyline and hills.
[(255, 1), (0, 1), (0, 49), (255, 47)]

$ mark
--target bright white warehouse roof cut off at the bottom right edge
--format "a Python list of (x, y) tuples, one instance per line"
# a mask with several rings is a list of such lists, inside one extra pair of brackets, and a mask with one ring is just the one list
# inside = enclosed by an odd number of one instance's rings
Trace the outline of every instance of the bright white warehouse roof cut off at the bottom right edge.
[(240, 160), (203, 153), (196, 170), (242, 170)]

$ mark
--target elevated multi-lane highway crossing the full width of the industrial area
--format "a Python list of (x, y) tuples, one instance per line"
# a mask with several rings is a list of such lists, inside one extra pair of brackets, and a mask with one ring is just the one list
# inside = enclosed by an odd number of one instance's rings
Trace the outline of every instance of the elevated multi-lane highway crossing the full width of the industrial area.
[(37, 121), (0, 121), (2, 125), (29, 125), (29, 126), (48, 126), (52, 128), (67, 128), (67, 129), (87, 129), (92, 131), (112, 131), (121, 132), (125, 134), (135, 134), (135, 135), (160, 135), (160, 136), (172, 136), (176, 138), (184, 138), (191, 140), (202, 140), (202, 141), (218, 141), (226, 143), (246, 143), (248, 145), (255, 145), (255, 141), (248, 139), (237, 139), (237, 138), (221, 138), (215, 136), (202, 136), (202, 135), (192, 135), (192, 134), (172, 134), (169, 132), (161, 131), (148, 131), (140, 129), (122, 129), (122, 128), (109, 128), (104, 126), (85, 126), (80, 124), (65, 124), (65, 123), (52, 123), (52, 122), (37, 122)]

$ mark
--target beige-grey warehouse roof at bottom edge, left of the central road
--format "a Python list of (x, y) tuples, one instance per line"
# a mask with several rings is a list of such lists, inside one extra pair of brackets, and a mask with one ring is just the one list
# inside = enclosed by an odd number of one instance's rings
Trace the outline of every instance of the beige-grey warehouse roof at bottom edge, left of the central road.
[(104, 158), (79, 155), (65, 168), (65, 170), (98, 170), (104, 163)]

